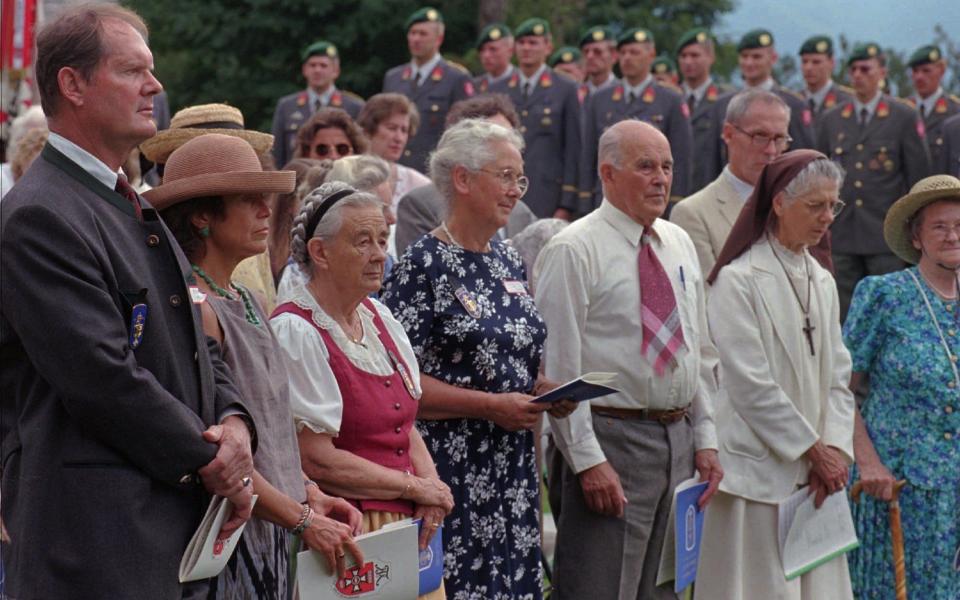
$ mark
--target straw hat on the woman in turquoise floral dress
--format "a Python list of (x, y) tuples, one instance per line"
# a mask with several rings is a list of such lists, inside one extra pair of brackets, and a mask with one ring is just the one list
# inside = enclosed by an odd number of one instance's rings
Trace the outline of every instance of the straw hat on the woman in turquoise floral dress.
[(911, 264), (920, 262), (920, 251), (913, 247), (910, 223), (921, 208), (937, 200), (960, 200), (960, 179), (951, 175), (933, 175), (913, 184), (910, 193), (893, 203), (883, 220), (883, 239), (893, 253)]

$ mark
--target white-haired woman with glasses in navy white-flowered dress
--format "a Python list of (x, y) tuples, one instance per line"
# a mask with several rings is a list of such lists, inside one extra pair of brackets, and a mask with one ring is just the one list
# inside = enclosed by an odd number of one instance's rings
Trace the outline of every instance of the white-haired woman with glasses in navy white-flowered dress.
[(530, 429), (547, 407), (530, 401), (550, 386), (537, 379), (546, 327), (520, 256), (491, 239), (527, 190), (522, 150), (487, 121), (448, 129), (430, 159), (446, 218), (384, 286), (423, 371), (418, 426), (456, 502), (443, 535), (455, 597), (541, 597)]

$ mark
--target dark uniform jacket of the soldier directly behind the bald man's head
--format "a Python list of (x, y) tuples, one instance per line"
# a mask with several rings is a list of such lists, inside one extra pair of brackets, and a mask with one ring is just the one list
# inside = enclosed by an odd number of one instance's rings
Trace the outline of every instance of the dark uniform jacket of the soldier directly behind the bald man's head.
[[(633, 93), (633, 102), (630, 94)], [(580, 211), (588, 213), (603, 197), (597, 174), (597, 146), (603, 132), (620, 121), (637, 119), (659, 129), (670, 142), (673, 154), (671, 196), (690, 194), (693, 132), (689, 109), (680, 94), (660, 85), (652, 76), (630, 88), (625, 82), (601, 90), (587, 100), (583, 115), (583, 145), (580, 150)]]

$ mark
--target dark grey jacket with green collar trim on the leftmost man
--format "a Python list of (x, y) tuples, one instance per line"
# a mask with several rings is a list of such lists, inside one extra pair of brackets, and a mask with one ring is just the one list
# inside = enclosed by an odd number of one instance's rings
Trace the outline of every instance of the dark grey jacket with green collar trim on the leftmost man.
[[(243, 408), (169, 230), (51, 146), (0, 205), (6, 593), (181, 598), (201, 434)], [(143, 314), (142, 308), (146, 312)], [(145, 318), (137, 343), (137, 316)]]

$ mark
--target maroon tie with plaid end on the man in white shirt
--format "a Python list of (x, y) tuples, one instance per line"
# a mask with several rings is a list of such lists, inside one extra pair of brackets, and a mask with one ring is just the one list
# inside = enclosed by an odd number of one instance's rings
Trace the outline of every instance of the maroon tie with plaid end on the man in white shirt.
[(640, 273), (640, 322), (643, 325), (641, 353), (663, 375), (668, 366), (677, 364), (677, 354), (684, 347), (683, 327), (673, 286), (650, 243), (650, 228), (644, 227), (640, 237), (637, 267)]

